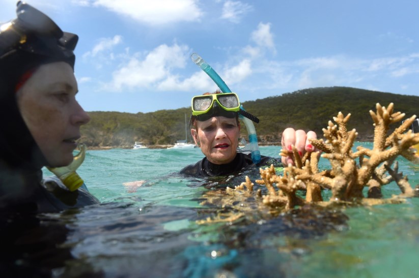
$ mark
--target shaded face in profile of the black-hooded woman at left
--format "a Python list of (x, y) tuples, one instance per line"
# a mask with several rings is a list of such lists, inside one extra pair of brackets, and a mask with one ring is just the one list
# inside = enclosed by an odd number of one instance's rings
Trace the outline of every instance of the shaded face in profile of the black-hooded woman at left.
[(80, 126), (90, 120), (77, 91), (73, 69), (64, 62), (40, 66), (17, 91), (23, 120), (51, 167), (72, 162)]

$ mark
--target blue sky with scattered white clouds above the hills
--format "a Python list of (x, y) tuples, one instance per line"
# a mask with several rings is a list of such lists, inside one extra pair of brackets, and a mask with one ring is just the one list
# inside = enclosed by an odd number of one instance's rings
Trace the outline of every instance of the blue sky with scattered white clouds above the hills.
[[(16, 2), (0, 0), (0, 22), (16, 17)], [(189, 106), (217, 88), (194, 52), (241, 101), (319, 86), (419, 96), (415, 0), (26, 2), (79, 36), (75, 75), (87, 111)]]

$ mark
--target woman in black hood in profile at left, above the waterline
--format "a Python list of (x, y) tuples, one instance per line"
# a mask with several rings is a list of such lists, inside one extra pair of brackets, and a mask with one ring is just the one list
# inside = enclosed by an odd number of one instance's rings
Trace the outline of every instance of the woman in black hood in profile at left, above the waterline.
[(73, 161), (89, 115), (77, 103), (77, 35), (30, 5), (0, 28), (0, 213), (51, 212), (99, 201), (42, 179), (41, 168)]

